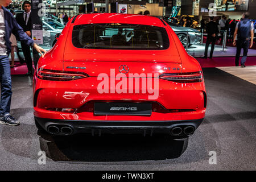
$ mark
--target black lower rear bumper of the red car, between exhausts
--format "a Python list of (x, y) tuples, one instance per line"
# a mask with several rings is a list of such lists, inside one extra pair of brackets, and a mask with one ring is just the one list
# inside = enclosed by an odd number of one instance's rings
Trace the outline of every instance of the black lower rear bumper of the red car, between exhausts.
[[(61, 132), (61, 128), (70, 127), (73, 134), (78, 133), (162, 133), (170, 134), (170, 130), (174, 127), (184, 129), (192, 126), (196, 130), (203, 119), (184, 120), (184, 121), (81, 121), (81, 120), (65, 120), (65, 119), (47, 119), (35, 117), (35, 121), (46, 131), (49, 126), (59, 128), (57, 135), (67, 135)], [(49, 132), (49, 131), (48, 131)], [(185, 135), (181, 133), (180, 135)]]

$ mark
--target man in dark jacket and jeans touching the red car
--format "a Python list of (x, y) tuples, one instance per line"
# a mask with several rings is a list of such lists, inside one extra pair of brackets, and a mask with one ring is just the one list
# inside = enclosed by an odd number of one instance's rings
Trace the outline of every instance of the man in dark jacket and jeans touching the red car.
[(22, 27), (16, 22), (13, 14), (5, 7), (9, 6), (11, 0), (0, 0), (0, 82), (1, 82), (1, 101), (0, 101), (0, 124), (19, 125), (10, 115), (11, 107), (11, 72), (9, 63), (9, 54), (11, 52), (10, 36), (13, 33), (22, 43), (32, 46), (41, 55), (46, 52), (22, 30)]

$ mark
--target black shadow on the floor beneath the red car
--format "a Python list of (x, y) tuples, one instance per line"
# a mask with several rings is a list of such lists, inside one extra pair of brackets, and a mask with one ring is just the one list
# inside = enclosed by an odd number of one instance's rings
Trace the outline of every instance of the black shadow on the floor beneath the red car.
[(188, 138), (169, 136), (105, 134), (92, 137), (77, 134), (69, 137), (40, 135), (40, 148), (54, 161), (128, 162), (178, 158), (188, 146)]

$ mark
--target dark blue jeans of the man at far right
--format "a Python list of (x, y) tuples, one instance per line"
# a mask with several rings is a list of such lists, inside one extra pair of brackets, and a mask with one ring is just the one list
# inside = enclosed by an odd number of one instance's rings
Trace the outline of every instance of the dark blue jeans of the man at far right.
[(236, 66), (239, 65), (239, 58), (240, 58), (240, 53), (242, 48), (243, 48), (243, 57), (241, 59), (241, 65), (244, 65), (247, 58), (248, 49), (249, 49), (249, 40), (237, 40)]

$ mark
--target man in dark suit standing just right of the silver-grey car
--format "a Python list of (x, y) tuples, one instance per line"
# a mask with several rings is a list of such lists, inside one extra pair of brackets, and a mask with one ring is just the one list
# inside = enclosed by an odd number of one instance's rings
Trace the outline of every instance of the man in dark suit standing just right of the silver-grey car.
[(209, 44), (212, 43), (212, 46), (210, 48), (210, 58), (212, 58), (213, 50), (218, 34), (218, 26), (217, 23), (213, 22), (213, 16), (210, 16), (209, 18), (210, 22), (206, 25), (206, 32), (207, 32), (207, 42), (205, 43), (205, 51), (204, 51), (204, 59), (207, 59), (208, 55), (208, 47)]

